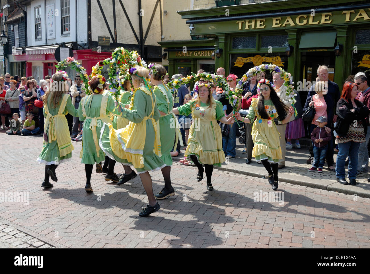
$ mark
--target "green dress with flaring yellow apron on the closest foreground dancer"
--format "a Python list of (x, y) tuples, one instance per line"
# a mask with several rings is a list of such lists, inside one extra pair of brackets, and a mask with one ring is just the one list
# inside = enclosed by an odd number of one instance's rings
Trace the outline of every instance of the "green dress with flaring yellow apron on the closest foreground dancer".
[(133, 166), (137, 173), (157, 171), (166, 166), (161, 157), (161, 145), (157, 131), (160, 117), (155, 96), (145, 87), (134, 89), (129, 109), (122, 117), (129, 120), (123, 129), (115, 130), (112, 124), (104, 124), (100, 147), (113, 160)]

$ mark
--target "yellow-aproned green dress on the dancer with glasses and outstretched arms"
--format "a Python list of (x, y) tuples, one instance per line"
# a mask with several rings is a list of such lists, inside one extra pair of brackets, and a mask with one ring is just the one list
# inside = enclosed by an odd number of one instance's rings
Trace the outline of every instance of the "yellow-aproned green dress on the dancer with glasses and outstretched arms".
[(217, 120), (225, 116), (222, 103), (212, 97), (211, 109), (203, 103), (197, 106), (196, 101), (193, 100), (177, 109), (180, 115), (188, 116), (191, 113), (194, 119), (194, 123), (189, 129), (185, 156), (196, 155), (201, 164), (221, 167), (221, 164), (226, 160), (222, 150), (221, 128), (217, 123)]

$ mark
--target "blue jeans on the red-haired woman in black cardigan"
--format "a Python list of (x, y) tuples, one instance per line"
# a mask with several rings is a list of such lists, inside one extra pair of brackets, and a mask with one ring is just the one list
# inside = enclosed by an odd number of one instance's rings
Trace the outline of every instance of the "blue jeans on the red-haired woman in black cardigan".
[(339, 152), (337, 156), (337, 162), (335, 166), (336, 177), (344, 179), (346, 177), (346, 171), (344, 170), (344, 163), (348, 156), (348, 178), (356, 179), (357, 175), (357, 164), (359, 161), (359, 147), (361, 143), (347, 142), (339, 143)]

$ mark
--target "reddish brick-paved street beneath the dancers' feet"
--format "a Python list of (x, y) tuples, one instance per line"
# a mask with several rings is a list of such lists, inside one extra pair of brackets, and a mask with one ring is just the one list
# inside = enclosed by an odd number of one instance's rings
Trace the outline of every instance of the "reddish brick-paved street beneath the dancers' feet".
[[(14, 228), (12, 232), (0, 226), (6, 238), (14, 233), (19, 239), (17, 235), (25, 233), (43, 242), (40, 247), (47, 243), (67, 248), (370, 247), (368, 198), (285, 182), (273, 192), (266, 179), (218, 169), (213, 171), (211, 192), (205, 178), (195, 180), (196, 167), (177, 163), (171, 172), (176, 195), (159, 201), (158, 212), (141, 218), (138, 212), (147, 198), (139, 176), (117, 186), (93, 173), (94, 192), (84, 191), (81, 143), (74, 142), (72, 161), (56, 169), (54, 188), (43, 189), (44, 165), (36, 163), (42, 140), (1, 135), (7, 153), (1, 154), (0, 195), (5, 198), (0, 218)], [(117, 164), (115, 170), (118, 174), (123, 169)], [(151, 175), (158, 193), (162, 174)], [(23, 200), (14, 201), (16, 193), (22, 193)]]

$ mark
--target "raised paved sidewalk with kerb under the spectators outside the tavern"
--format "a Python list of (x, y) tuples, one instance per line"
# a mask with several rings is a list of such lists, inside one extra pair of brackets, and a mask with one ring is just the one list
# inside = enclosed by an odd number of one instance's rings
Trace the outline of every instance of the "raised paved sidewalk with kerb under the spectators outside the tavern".
[[(265, 176), (267, 173), (266, 169), (262, 164), (257, 164), (254, 158), (252, 158), (251, 164), (247, 165), (245, 163), (247, 155), (242, 153), (243, 148), (244, 145), (240, 145), (237, 140), (236, 157), (231, 158), (230, 161), (223, 163), (222, 167), (216, 168), (259, 178)], [(184, 158), (183, 153), (185, 149), (182, 149), (181, 151), (182, 154), (180, 154), (178, 157), (175, 157), (176, 161)], [(334, 154), (334, 163), (336, 161), (336, 157), (337, 154)], [(310, 186), (312, 188), (336, 191), (340, 193), (352, 195), (356, 194), (361, 197), (370, 198), (370, 182), (367, 181), (367, 178), (370, 177), (370, 174), (359, 174), (356, 179), (356, 186), (342, 185), (336, 181), (335, 172), (329, 171), (327, 168), (324, 168), (322, 173), (318, 173), (317, 171), (308, 171), (312, 165), (306, 163), (307, 159), (308, 147), (302, 146), (301, 149), (287, 149), (285, 159), (286, 167), (279, 169), (280, 181)], [(348, 175), (347, 168), (348, 167), (346, 166), (346, 175)]]

